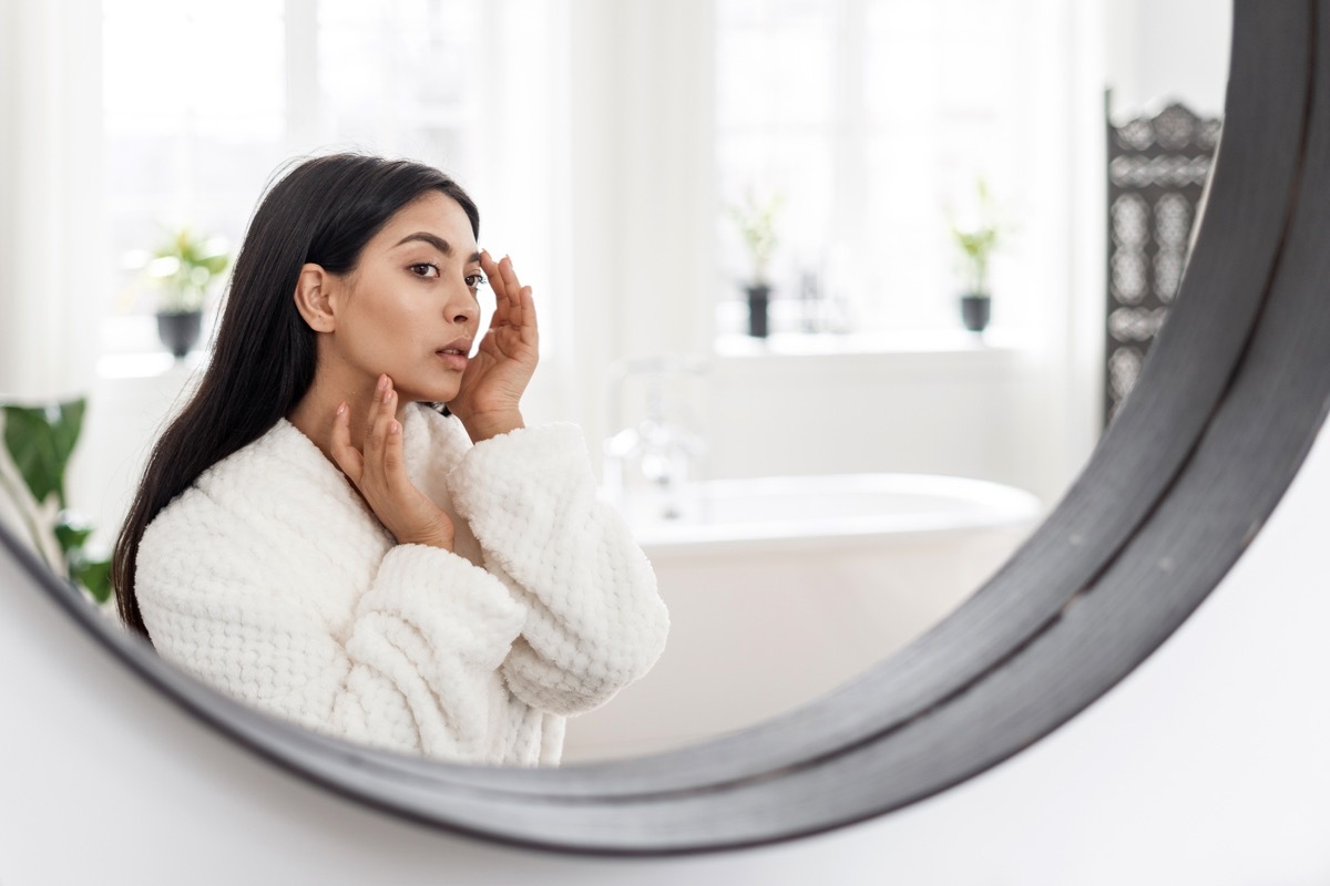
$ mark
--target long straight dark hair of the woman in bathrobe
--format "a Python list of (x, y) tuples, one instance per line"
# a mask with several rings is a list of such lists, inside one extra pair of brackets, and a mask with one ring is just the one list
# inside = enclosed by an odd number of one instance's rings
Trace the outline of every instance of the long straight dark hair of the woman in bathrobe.
[(364, 244), (430, 190), (455, 199), (480, 236), (476, 205), (456, 182), (422, 163), (317, 157), (269, 189), (235, 259), (203, 379), (157, 440), (116, 541), (112, 580), (128, 628), (148, 638), (134, 596), (138, 543), (148, 525), (207, 468), (267, 433), (314, 381), (315, 336), (294, 302), (301, 267), (354, 271)]

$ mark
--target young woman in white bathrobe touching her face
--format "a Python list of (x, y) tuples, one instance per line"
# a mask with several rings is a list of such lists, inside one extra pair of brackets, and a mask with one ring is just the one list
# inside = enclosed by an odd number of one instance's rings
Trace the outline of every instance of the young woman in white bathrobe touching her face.
[(531, 288), (477, 235), (419, 163), (321, 157), (271, 187), (116, 546), (117, 600), (166, 659), (311, 729), (557, 764), (564, 717), (642, 676), (668, 616), (581, 433), (523, 424)]

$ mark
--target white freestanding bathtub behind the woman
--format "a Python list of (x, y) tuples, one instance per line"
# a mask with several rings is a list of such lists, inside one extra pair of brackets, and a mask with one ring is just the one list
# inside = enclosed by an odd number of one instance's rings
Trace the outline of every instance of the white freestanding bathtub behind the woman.
[(681, 519), (628, 505), (670, 638), (645, 679), (568, 723), (565, 762), (676, 748), (817, 697), (954, 610), (1040, 510), (1009, 486), (914, 474), (712, 481)]

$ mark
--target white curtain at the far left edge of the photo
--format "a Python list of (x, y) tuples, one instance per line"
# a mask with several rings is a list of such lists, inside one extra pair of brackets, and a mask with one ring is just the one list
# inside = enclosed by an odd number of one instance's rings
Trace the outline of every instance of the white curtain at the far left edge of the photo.
[[(101, 4), (0, 0), (0, 397), (82, 393), (104, 275)], [(164, 72), (164, 76), (168, 76)]]

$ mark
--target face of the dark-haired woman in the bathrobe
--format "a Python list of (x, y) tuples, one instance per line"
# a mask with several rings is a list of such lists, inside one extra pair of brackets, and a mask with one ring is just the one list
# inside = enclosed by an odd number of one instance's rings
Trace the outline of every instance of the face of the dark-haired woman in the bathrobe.
[(447, 402), (458, 393), (476, 339), (483, 280), (471, 221), (451, 197), (430, 191), (402, 207), (336, 278), (336, 328), (321, 365), (372, 385), (387, 373), (403, 402)]

